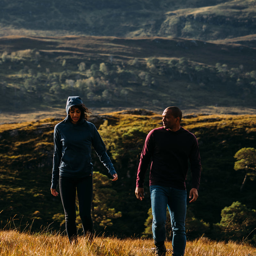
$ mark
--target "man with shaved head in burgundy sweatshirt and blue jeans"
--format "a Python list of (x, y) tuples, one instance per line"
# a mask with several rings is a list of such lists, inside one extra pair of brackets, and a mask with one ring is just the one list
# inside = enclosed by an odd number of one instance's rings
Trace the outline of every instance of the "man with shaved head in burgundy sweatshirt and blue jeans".
[(171, 216), (173, 256), (183, 256), (186, 247), (185, 218), (187, 208), (186, 176), (188, 159), (192, 172), (190, 202), (198, 197), (201, 163), (198, 142), (194, 134), (180, 126), (182, 112), (177, 107), (168, 107), (162, 114), (164, 127), (148, 133), (137, 172), (136, 197), (144, 198), (143, 183), (150, 167), (150, 197), (153, 215), (152, 232), (156, 255), (165, 256), (166, 207)]

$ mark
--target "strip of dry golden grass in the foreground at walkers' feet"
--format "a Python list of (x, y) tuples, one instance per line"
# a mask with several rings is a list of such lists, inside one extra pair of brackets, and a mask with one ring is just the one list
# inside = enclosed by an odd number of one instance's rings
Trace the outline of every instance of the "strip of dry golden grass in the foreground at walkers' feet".
[[(172, 255), (171, 242), (166, 242), (167, 256)], [(95, 237), (93, 243), (88, 243), (86, 237), (79, 237), (76, 245), (70, 245), (67, 236), (47, 233), (32, 234), (18, 231), (0, 232), (1, 256), (30, 256), (30, 255), (76, 255), (76, 256), (149, 256), (154, 255), (152, 239), (113, 237)], [(186, 256), (242, 256), (256, 255), (256, 248), (234, 242), (215, 242), (207, 238), (188, 241)]]

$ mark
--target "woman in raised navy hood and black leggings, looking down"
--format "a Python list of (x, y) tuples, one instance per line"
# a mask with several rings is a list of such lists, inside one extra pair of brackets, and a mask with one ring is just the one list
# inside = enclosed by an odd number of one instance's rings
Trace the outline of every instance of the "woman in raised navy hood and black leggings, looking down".
[(60, 196), (65, 212), (66, 231), (70, 243), (77, 241), (76, 191), (79, 215), (84, 234), (92, 236), (92, 172), (91, 146), (100, 161), (117, 180), (117, 173), (109, 159), (106, 147), (94, 124), (87, 122), (90, 113), (80, 97), (68, 97), (67, 117), (54, 128), (54, 155), (51, 193), (57, 196), (59, 182)]

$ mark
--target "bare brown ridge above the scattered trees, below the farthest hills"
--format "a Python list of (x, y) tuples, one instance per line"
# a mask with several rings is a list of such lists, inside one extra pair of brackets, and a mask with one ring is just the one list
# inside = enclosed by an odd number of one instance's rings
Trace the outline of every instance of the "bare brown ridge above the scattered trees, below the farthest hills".
[[(236, 39), (234, 39), (236, 40)], [(221, 41), (224, 43), (224, 41)], [(229, 40), (228, 42), (231, 43)], [(242, 41), (241, 41), (242, 42)], [(3, 36), (0, 51), (36, 49), (55, 54), (84, 54), (85, 56), (119, 56), (119, 58), (169, 58), (186, 57), (204, 65), (214, 66), (217, 62), (246, 69), (256, 69), (253, 56), (256, 49), (246, 45), (216, 44), (199, 40), (166, 37), (119, 38), (114, 36)], [(236, 62), (234, 62), (236, 60)]]

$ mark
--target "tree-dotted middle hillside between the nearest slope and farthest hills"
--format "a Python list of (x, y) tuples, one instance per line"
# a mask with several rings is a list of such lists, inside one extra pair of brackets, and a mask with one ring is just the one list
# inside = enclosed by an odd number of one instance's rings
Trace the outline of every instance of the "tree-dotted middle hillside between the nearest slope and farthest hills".
[(1, 123), (15, 122), (8, 115), (64, 111), (70, 95), (97, 113), (178, 105), (190, 113), (253, 114), (255, 51), (181, 38), (0, 37)]

